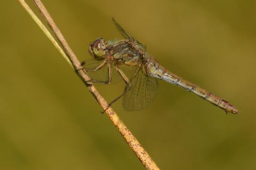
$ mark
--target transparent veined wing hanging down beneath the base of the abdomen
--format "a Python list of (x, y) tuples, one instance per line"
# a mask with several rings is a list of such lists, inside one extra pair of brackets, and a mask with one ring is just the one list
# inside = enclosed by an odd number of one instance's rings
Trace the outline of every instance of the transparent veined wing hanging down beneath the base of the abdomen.
[[(127, 68), (132, 67), (132, 68)], [(147, 66), (143, 63), (140, 66), (121, 67), (127, 74), (132, 86), (123, 98), (123, 107), (127, 111), (142, 110), (146, 108), (155, 98), (158, 89), (158, 81), (147, 72)], [(127, 73), (128, 70), (130, 71)], [(126, 86), (125, 91), (129, 89)]]

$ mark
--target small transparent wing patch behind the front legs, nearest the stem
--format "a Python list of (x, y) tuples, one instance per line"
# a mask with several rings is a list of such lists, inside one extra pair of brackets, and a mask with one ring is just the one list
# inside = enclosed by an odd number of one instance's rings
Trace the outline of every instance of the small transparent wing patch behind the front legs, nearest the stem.
[[(85, 70), (86, 69), (94, 70), (103, 62), (104, 62), (104, 59), (93, 58), (93, 59), (86, 60), (84, 62), (83, 67), (85, 68)], [(108, 79), (109, 79), (108, 64), (104, 65), (101, 69), (96, 70), (96, 71), (86, 70), (86, 73), (93, 80), (96, 80), (99, 82), (108, 82)], [(119, 80), (121, 80), (121, 77), (118, 75), (118, 73), (114, 67), (111, 67), (111, 76), (112, 76), (111, 83), (115, 83), (115, 82), (118, 82)]]

